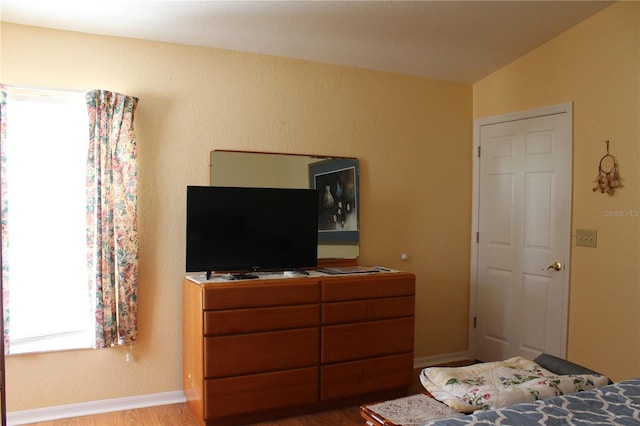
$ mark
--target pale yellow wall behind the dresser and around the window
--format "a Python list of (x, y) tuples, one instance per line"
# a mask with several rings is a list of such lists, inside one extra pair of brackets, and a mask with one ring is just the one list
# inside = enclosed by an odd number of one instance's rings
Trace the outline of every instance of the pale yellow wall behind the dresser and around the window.
[(10, 356), (9, 411), (182, 388), (185, 187), (208, 183), (213, 149), (358, 157), (361, 263), (416, 273), (417, 358), (466, 351), (471, 85), (12, 24), (1, 43), (4, 83), (140, 98), (133, 361), (120, 349)]

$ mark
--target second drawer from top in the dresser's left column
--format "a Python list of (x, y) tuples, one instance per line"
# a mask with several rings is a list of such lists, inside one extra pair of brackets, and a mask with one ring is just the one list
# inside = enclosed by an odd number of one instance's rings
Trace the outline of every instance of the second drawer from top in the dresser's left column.
[(204, 335), (249, 333), (317, 327), (320, 308), (315, 305), (233, 309), (204, 312)]

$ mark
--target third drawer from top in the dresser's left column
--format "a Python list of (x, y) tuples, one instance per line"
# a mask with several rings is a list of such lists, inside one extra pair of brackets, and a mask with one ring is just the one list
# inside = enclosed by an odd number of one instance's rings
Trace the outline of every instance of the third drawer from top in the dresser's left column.
[(319, 329), (206, 337), (204, 377), (301, 368), (318, 363)]

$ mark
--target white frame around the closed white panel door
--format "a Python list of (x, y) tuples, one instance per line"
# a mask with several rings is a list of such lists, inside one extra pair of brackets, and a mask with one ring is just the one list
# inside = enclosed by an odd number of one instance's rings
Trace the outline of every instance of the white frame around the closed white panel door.
[[(569, 193), (571, 194), (571, 207), (569, 209), (569, 229), (568, 236), (571, 240), (573, 229), (573, 103), (567, 102), (564, 104), (551, 105), (541, 108), (534, 108), (530, 110), (512, 112), (507, 114), (501, 114), (491, 117), (478, 118), (473, 120), (473, 164), (472, 164), (472, 210), (471, 210), (471, 277), (469, 281), (469, 344), (468, 352), (471, 357), (476, 355), (476, 332), (475, 332), (475, 317), (477, 314), (477, 286), (478, 286), (478, 222), (479, 222), (479, 196), (480, 196), (480, 129), (483, 126), (491, 124), (506, 123), (509, 121), (526, 120), (529, 118), (543, 117), (547, 115), (555, 114), (567, 114), (567, 120), (569, 120), (569, 139), (571, 140), (571, 161), (569, 164)], [(561, 357), (567, 356), (567, 341), (568, 341), (568, 329), (569, 329), (569, 287), (571, 285), (571, 241), (569, 241), (567, 257), (564, 269), (566, 271), (567, 283), (564, 288), (563, 299), (564, 305), (562, 307), (562, 324), (561, 333), (564, 336), (562, 342)]]

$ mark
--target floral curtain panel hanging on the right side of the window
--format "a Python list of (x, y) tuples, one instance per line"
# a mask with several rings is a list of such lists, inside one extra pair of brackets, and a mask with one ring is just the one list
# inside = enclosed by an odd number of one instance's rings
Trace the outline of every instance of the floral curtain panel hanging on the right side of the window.
[(137, 339), (137, 103), (120, 93), (87, 93), (87, 248), (96, 348)]

